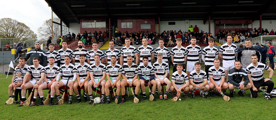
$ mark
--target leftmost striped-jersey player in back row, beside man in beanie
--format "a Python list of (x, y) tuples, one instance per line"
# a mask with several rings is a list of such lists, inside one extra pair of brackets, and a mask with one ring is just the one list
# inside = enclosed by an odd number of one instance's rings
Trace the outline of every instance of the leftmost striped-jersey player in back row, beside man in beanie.
[(49, 51), (46, 52), (46, 56), (47, 56), (47, 66), (49, 66), (49, 58), (52, 56), (55, 58), (55, 65), (56, 66), (60, 66), (60, 55), (57, 51), (54, 50), (55, 46), (53, 43), (49, 44)]

